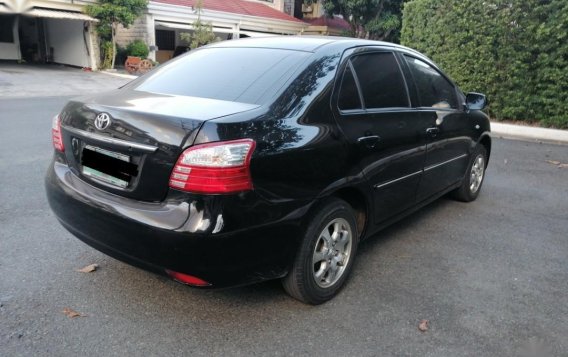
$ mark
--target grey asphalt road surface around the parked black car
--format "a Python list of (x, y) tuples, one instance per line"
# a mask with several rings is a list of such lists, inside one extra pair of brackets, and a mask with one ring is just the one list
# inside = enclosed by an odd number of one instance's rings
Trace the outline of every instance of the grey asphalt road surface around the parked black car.
[(441, 199), (363, 244), (346, 289), (311, 307), (278, 282), (187, 288), (67, 233), (42, 182), (64, 101), (0, 100), (1, 356), (568, 353), (568, 168), (547, 163), (568, 146), (495, 140), (476, 202)]

